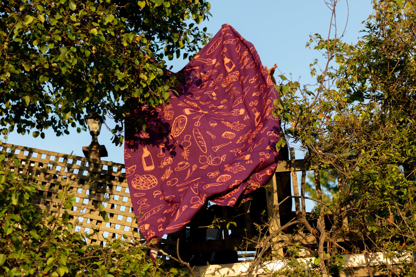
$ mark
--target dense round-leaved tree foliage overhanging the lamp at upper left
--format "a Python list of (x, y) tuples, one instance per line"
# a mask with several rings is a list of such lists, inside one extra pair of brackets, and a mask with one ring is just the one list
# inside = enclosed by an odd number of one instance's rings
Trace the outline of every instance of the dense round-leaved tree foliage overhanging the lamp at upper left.
[(129, 103), (167, 101), (176, 79), (162, 58), (191, 57), (206, 43), (206, 29), (195, 23), (209, 9), (206, 0), (2, 1), (2, 133), (80, 132), (83, 115), (95, 109), (116, 121), (118, 144)]

